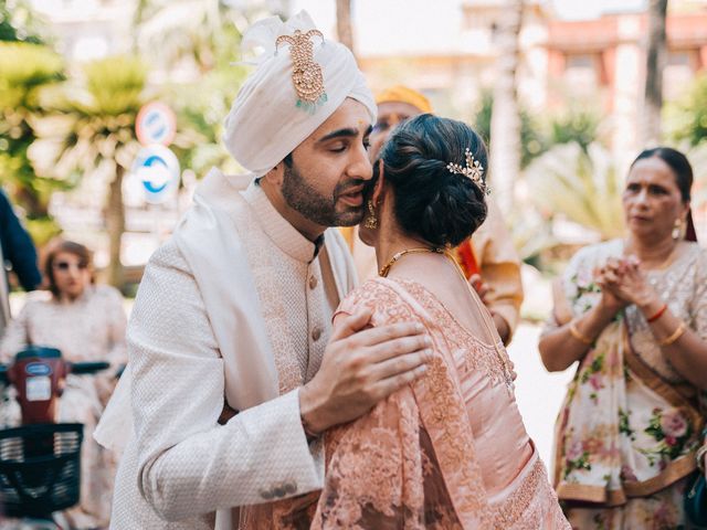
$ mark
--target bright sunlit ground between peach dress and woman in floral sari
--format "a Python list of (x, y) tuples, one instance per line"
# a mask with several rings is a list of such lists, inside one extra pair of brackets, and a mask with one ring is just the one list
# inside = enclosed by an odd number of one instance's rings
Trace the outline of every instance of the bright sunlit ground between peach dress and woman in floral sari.
[(540, 456), (549, 467), (552, 455), (555, 418), (560, 410), (567, 383), (574, 374), (573, 369), (560, 373), (549, 373), (540, 361), (538, 337), (540, 326), (520, 324), (508, 348), (516, 365), (516, 400), (530, 437), (535, 441)]

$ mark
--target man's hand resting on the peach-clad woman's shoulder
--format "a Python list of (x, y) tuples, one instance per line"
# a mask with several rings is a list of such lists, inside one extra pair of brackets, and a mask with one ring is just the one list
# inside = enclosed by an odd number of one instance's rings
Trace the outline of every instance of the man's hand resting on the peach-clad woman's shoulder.
[(310, 433), (356, 420), (425, 373), (432, 342), (422, 325), (371, 328), (370, 318), (362, 311), (335, 321), (321, 368), (299, 391)]

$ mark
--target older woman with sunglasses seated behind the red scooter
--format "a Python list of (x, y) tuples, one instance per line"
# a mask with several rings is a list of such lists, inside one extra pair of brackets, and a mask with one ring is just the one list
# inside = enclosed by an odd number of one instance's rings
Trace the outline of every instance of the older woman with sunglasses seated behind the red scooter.
[[(89, 251), (71, 241), (50, 250), (44, 266), (49, 294), (28, 299), (0, 343), (0, 361), (11, 362), (27, 346), (50, 346), (68, 361), (127, 362), (123, 298), (113, 287), (95, 285)], [(115, 474), (114, 457), (93, 439), (93, 431), (114, 386), (115, 370), (99, 375), (70, 375), (57, 422), (84, 424), (81, 504), (66, 516), (72, 528), (108, 523)], [(2, 403), (6, 424), (19, 421), (17, 405)]]

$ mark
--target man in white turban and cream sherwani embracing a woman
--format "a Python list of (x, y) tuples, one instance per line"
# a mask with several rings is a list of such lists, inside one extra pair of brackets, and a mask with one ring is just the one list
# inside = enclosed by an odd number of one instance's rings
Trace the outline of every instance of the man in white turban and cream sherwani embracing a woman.
[(412, 324), (366, 329), (361, 314), (331, 329), (355, 273), (327, 229), (361, 220), (372, 172), (376, 106), (351, 53), (305, 13), (255, 24), (244, 45), (264, 52), (224, 141), (250, 172), (212, 170), (146, 268), (128, 377), (97, 435), (129, 436), (110, 528), (233, 529), (320, 488), (320, 434), (430, 359)]

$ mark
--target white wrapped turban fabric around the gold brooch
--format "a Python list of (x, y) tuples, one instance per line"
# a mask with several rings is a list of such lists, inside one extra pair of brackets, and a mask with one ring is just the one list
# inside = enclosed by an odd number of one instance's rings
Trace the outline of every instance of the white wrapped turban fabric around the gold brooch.
[(315, 29), (305, 11), (283, 22), (271, 17), (253, 24), (243, 35), (242, 47), (260, 46), (264, 52), (257, 68), (247, 77), (225, 119), (223, 141), (233, 158), (255, 176), (263, 176), (339, 108), (347, 97), (366, 105), (376, 121), (376, 102), (358, 70), (354, 54), (342, 44), (313, 38), (314, 61), (320, 66), (327, 98), (314, 110), (297, 106), (292, 81), (289, 45), (275, 50), (279, 35)]

